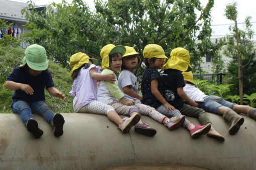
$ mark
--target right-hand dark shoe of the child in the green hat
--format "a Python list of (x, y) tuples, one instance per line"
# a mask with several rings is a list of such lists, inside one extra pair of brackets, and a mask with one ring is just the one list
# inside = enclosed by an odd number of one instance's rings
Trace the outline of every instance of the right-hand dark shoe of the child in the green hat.
[(65, 123), (64, 117), (60, 113), (53, 116), (53, 132), (56, 137), (63, 134), (63, 124)]

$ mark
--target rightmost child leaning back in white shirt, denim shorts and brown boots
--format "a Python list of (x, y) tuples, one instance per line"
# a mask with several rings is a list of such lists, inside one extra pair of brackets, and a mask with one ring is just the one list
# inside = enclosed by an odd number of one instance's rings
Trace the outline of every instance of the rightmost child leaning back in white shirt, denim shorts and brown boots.
[(228, 102), (223, 98), (216, 95), (206, 95), (200, 89), (195, 87), (192, 72), (182, 72), (186, 85), (184, 86), (185, 93), (192, 99), (199, 102), (198, 107), (204, 109), (207, 112), (220, 114), (223, 119), (231, 123), (228, 132), (235, 134), (242, 125), (244, 118), (237, 113), (247, 114), (256, 120), (256, 108), (248, 105), (239, 105)]

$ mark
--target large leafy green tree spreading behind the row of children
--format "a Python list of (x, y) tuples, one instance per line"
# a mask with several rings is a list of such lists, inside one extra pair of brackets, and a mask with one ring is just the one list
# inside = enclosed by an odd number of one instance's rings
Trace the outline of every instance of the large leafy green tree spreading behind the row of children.
[[(201, 56), (218, 50), (210, 41), (213, 4), (214, 0), (205, 7), (199, 0), (95, 0), (96, 11), (91, 12), (82, 0), (71, 4), (63, 0), (52, 3), (41, 16), (31, 2), (23, 12), (29, 20), (26, 27), (32, 31), (24, 37), (45, 46), (64, 65), (77, 51), (100, 58), (100, 48), (107, 43), (134, 46), (142, 61), (144, 46), (157, 43), (167, 56), (173, 48), (185, 47), (192, 66), (200, 70)], [(199, 16), (196, 10), (201, 12)], [(196, 44), (195, 39), (201, 42)], [(142, 70), (138, 67), (136, 72)]]

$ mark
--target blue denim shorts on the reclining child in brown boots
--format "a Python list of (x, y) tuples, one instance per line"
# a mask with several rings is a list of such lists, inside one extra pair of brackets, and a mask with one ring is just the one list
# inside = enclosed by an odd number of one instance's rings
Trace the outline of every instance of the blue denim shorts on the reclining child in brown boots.
[(200, 102), (198, 107), (204, 109), (207, 112), (218, 113), (217, 110), (220, 106), (227, 106), (233, 108), (235, 103), (224, 100), (223, 98), (216, 95), (207, 95), (204, 97), (204, 102)]

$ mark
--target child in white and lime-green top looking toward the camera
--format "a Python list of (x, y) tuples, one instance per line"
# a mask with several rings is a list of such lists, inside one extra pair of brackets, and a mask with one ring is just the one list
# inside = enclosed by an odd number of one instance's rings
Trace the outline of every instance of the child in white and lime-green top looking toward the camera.
[[(101, 66), (103, 68), (101, 74), (114, 74), (114, 71), (118, 71), (122, 65), (121, 56), (125, 51), (126, 49), (122, 45), (105, 45), (100, 51), (100, 56), (102, 57)], [(124, 94), (118, 88), (117, 83), (100, 81), (98, 85), (97, 98), (99, 101), (113, 106), (118, 114), (130, 115), (131, 117), (136, 115), (140, 119), (139, 110), (134, 106), (135, 101), (126, 100), (124, 98)], [(140, 120), (139, 122), (141, 123), (142, 121)], [(136, 131), (148, 136), (154, 136), (157, 132), (151, 127), (140, 128)]]

